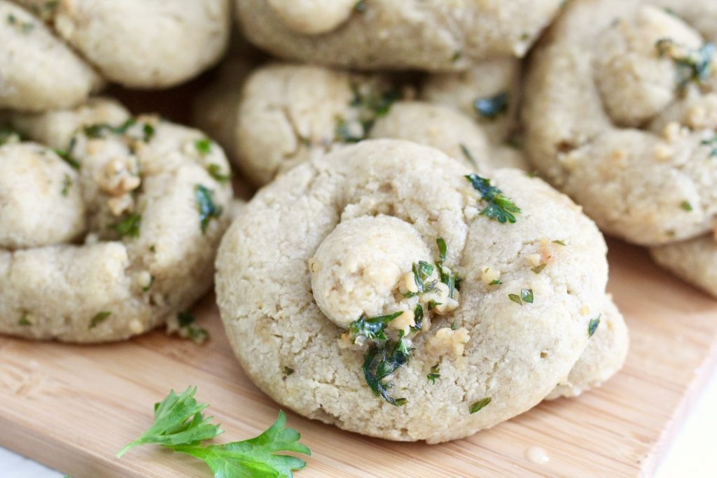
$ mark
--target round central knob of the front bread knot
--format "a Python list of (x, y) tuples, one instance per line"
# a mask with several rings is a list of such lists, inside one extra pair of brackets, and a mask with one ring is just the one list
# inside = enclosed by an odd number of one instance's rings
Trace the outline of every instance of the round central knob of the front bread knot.
[(316, 304), (341, 328), (361, 316), (413, 310), (417, 300), (403, 293), (417, 291), (404, 285), (404, 276), (412, 277), (412, 264), (429, 263), (431, 255), (420, 234), (401, 219), (379, 215), (343, 221), (309, 260)]

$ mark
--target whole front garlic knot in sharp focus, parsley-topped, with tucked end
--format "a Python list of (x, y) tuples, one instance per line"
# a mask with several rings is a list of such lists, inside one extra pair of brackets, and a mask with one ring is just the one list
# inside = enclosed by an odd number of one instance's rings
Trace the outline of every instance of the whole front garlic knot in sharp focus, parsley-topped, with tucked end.
[[(605, 252), (594, 223), (539, 178), (503, 168), (488, 180), (435, 148), (365, 140), (295, 166), (244, 207), (219, 248), (217, 302), (244, 371), (282, 406), (435, 443), (622, 365)], [(617, 359), (571, 377), (599, 337), (595, 356)]]

